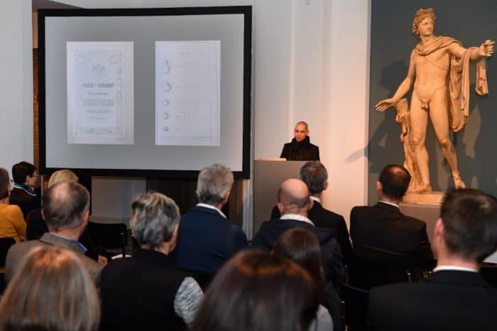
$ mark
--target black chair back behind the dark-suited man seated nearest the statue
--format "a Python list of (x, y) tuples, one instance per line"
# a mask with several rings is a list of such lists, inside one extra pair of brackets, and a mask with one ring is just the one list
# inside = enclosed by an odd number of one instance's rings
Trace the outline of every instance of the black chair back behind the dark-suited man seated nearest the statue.
[(422, 277), (415, 257), (370, 249), (356, 251), (349, 264), (349, 284), (363, 290), (392, 283), (410, 283)]

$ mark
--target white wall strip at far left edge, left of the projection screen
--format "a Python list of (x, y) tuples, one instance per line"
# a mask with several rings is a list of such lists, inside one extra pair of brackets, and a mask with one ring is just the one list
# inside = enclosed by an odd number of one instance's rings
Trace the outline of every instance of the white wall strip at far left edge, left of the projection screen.
[(0, 11), (0, 167), (33, 162), (31, 0), (3, 0)]

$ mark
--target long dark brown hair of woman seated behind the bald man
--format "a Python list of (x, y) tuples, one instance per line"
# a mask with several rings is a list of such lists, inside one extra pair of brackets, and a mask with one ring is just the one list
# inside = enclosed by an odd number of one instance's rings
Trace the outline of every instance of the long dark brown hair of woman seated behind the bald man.
[(321, 262), (321, 247), (315, 234), (302, 227), (284, 232), (273, 248), (273, 254), (295, 261), (305, 268), (315, 281), (320, 302), (324, 302), (324, 273)]

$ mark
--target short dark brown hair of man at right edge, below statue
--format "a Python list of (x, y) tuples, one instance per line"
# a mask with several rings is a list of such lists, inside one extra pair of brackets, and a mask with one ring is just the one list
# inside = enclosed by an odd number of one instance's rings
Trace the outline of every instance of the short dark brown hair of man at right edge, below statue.
[(481, 264), (497, 249), (497, 201), (480, 190), (451, 190), (440, 208), (450, 253)]

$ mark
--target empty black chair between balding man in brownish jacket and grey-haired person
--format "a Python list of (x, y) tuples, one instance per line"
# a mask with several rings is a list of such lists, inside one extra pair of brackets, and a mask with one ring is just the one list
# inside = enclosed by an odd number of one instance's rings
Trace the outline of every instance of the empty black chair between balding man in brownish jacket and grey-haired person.
[(126, 257), (128, 244), (128, 228), (124, 223), (94, 223), (88, 222), (89, 236), (95, 246), (104, 249), (120, 249)]

